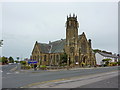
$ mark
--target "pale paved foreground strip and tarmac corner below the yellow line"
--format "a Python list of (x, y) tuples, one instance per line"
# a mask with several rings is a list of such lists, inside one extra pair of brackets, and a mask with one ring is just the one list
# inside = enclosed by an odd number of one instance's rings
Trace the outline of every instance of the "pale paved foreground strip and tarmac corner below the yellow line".
[(39, 83), (30, 88), (118, 88), (118, 71)]

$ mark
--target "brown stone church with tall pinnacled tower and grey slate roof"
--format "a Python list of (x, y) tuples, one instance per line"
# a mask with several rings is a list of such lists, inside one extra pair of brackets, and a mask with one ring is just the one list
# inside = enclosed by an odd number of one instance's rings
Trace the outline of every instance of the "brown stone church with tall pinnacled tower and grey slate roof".
[(30, 59), (39, 65), (59, 65), (61, 55), (66, 53), (69, 66), (96, 65), (91, 39), (85, 33), (78, 35), (79, 23), (77, 16), (67, 16), (66, 39), (47, 43), (35, 42)]

